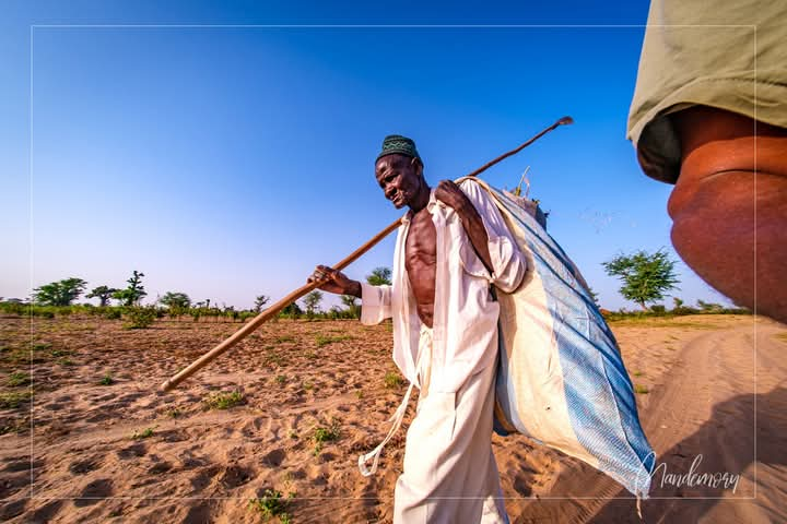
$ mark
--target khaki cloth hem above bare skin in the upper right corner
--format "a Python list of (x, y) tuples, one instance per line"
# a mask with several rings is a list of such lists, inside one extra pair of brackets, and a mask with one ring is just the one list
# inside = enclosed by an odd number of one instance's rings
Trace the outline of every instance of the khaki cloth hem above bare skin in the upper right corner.
[(787, 1), (650, 3), (627, 132), (646, 175), (678, 180), (668, 116), (696, 105), (787, 128)]

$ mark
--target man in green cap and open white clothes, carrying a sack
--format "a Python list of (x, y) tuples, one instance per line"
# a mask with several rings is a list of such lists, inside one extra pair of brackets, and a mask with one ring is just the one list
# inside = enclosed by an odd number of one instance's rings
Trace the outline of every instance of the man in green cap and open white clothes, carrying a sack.
[[(366, 324), (392, 318), (393, 361), (420, 389), (393, 521), (508, 522), (491, 443), (500, 313), (493, 286), (516, 289), (525, 258), (474, 181), (428, 187), (410, 139), (385, 139), (375, 176), (397, 209), (410, 207), (399, 228), (392, 284), (359, 283), (322, 265), (309, 282), (360, 297)], [(408, 398), (409, 391), (393, 429)]]

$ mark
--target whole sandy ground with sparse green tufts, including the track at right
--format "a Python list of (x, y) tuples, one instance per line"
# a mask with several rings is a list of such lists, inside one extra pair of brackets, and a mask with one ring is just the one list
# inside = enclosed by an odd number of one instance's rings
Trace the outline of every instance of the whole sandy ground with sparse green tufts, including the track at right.
[[(238, 326), (0, 318), (0, 393), (23, 396), (0, 407), (0, 521), (261, 522), (249, 501), (275, 490), (286, 514), (271, 522), (390, 522), (404, 431), (375, 477), (355, 465), (406, 390), (390, 325), (266, 324), (156, 392)], [(787, 522), (787, 326), (695, 315), (612, 329), (648, 391), (637, 401), (659, 469), (645, 522)], [(235, 406), (208, 403), (233, 392)], [(494, 451), (512, 522), (641, 522), (619, 485), (578, 461), (522, 436), (495, 436)], [(700, 477), (725, 473), (737, 484)]]

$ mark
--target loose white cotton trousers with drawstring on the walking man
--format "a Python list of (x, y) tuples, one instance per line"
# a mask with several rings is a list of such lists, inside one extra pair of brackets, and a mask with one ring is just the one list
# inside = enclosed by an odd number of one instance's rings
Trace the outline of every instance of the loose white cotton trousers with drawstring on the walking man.
[(492, 454), (495, 366), (472, 374), (456, 393), (430, 391), (431, 335), (421, 331), (421, 395), (393, 495), (393, 523), (507, 523)]

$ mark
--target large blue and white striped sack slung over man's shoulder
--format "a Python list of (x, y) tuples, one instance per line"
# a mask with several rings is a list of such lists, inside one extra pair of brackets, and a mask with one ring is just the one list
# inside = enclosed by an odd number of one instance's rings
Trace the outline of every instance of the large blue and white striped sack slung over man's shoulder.
[(497, 290), (495, 431), (524, 433), (647, 498), (655, 455), (614, 335), (587, 284), (510, 195), (475, 181), (493, 196), (528, 263), (516, 291)]

